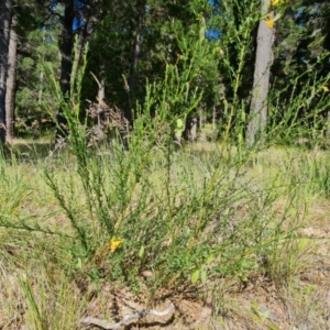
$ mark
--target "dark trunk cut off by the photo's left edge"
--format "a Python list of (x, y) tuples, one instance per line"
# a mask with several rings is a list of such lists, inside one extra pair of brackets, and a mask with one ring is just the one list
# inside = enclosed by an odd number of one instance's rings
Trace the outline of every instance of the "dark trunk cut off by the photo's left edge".
[(6, 78), (12, 0), (2, 0), (0, 15), (0, 143), (6, 142)]

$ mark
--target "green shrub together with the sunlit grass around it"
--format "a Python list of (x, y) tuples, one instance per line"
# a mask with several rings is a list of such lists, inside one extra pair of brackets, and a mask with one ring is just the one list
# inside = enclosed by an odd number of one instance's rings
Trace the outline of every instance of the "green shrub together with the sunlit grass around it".
[[(232, 36), (235, 69), (197, 28), (201, 37), (183, 37), (162, 78), (146, 80), (144, 102), (131, 105), (124, 143), (113, 128), (90, 143), (88, 44), (74, 56), (67, 94), (43, 63), (65, 128), (47, 109), (62, 144), (18, 139), (1, 148), (0, 329), (81, 329), (96, 300), (98, 316), (113, 320), (105, 287), (145, 309), (198, 301), (212, 310), (205, 330), (329, 329), (329, 74), (308, 69), (272, 86), (264, 125), (246, 143), (251, 95), (239, 89), (251, 30), (242, 28), (245, 41)], [(232, 95), (218, 100), (223, 112), (204, 125), (204, 139), (175, 143), (178, 120), (201, 109), (200, 73), (215, 58)], [(265, 296), (285, 317), (261, 305)]]

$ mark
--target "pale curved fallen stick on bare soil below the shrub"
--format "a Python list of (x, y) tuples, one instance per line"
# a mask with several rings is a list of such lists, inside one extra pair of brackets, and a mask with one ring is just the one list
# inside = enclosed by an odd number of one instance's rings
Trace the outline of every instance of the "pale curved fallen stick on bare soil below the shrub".
[(121, 326), (124, 326), (132, 320), (140, 320), (150, 316), (164, 317), (169, 315), (173, 310), (174, 310), (174, 305), (170, 302), (169, 306), (163, 311), (150, 310), (150, 311), (141, 311), (132, 315), (127, 315), (118, 323), (108, 323), (106, 320), (100, 320), (97, 318), (89, 318), (89, 317), (82, 319), (81, 323), (85, 326), (97, 326), (102, 329), (119, 329)]

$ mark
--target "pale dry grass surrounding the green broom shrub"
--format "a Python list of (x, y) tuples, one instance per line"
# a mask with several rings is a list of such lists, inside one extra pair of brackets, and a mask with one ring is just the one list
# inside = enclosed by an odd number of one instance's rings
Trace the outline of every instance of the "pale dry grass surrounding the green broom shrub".
[[(201, 148), (202, 155), (199, 154)], [(224, 148), (221, 148), (221, 145), (220, 151), (221, 153), (219, 153), (219, 146), (217, 145), (199, 143), (194, 146), (194, 150), (185, 151), (187, 155), (184, 160), (186, 161), (183, 161), (179, 155), (177, 160), (174, 158), (173, 182), (175, 183), (175, 178), (183, 176), (187, 168), (190, 170), (191, 178), (194, 178), (194, 183), (187, 182), (186, 186), (179, 180), (177, 180), (177, 186), (172, 186), (172, 189), (178, 193), (174, 201), (176, 207), (179, 207), (180, 202), (185, 200), (185, 195), (191, 194), (194, 189), (198, 190), (201, 187), (206, 173), (205, 168), (210, 166), (207, 161), (222, 157), (222, 162), (226, 162), (229, 155)], [(305, 156), (307, 160), (309, 157), (322, 158), (324, 154), (319, 151), (317, 153), (306, 152)], [(191, 161), (189, 165), (186, 163), (189, 162), (187, 160)], [(299, 175), (300, 160), (301, 152), (295, 148), (264, 151), (253, 157), (252, 163), (245, 165), (245, 177), (242, 177), (242, 183), (258, 179), (258, 189), (274, 187), (282, 189), (283, 196), (276, 199), (272, 208), (267, 210), (276, 217), (280, 217), (286, 207), (287, 195), (285, 194), (289, 193), (287, 184), (295, 170)], [(79, 197), (80, 188), (77, 174), (73, 170), (74, 166), (69, 161), (64, 161), (59, 162), (63, 166), (57, 168), (57, 161), (48, 158), (46, 162), (48, 162), (46, 163), (47, 166), (55, 166), (57, 169), (56, 176), (64, 194), (70, 191), (72, 183), (74, 183), (76, 190), (72, 193), (75, 196), (76, 207), (81, 209), (81, 218), (87, 217), (87, 213), (84, 213), (85, 199), (81, 196)], [(158, 158), (157, 162), (162, 162), (162, 160)], [(26, 221), (30, 221), (29, 223), (38, 221), (53, 230), (65, 230), (69, 233), (69, 229), (65, 229), (68, 226), (67, 218), (63, 215), (58, 201), (45, 185), (42, 166), (44, 164), (45, 162), (41, 161), (38, 163), (22, 163), (15, 166), (4, 165), (8, 182), (20, 183), (18, 187), (23, 189), (19, 205), (14, 209), (11, 208), (11, 215), (25, 217)], [(157, 170), (157, 163), (153, 165), (150, 174), (148, 179), (153, 185), (151, 189), (154, 193), (153, 197), (157, 196), (156, 200), (163, 200), (166, 195), (163, 188), (165, 174)], [(111, 178), (107, 179), (111, 182)], [(194, 189), (191, 184), (195, 185)], [(11, 185), (11, 187), (15, 188), (14, 185)], [(290, 272), (292, 282), (280, 284), (271, 280), (262, 270), (251, 272), (248, 283), (232, 278), (227, 280), (226, 277), (212, 283), (212, 276), (210, 276), (205, 290), (201, 290), (204, 292), (200, 296), (201, 300), (197, 305), (189, 305), (193, 312), (185, 311), (196, 314), (194, 322), (197, 322), (199, 318), (200, 322), (196, 324), (201, 327), (200, 329), (204, 329), (205, 324), (202, 323), (209, 324), (209, 328), (205, 329), (233, 329), (232, 327), (235, 327), (234, 329), (271, 329), (272, 324), (277, 327), (273, 329), (289, 329), (285, 327), (290, 327), (290, 324), (296, 327), (307, 327), (304, 324), (308, 324), (314, 329), (328, 329), (327, 315), (330, 306), (327, 295), (329, 290), (327, 278), (330, 264), (328, 260), (330, 251), (328, 232), (330, 232), (330, 228), (328, 229), (327, 221), (330, 215), (330, 206), (320, 195), (305, 191), (302, 185), (297, 185), (296, 189), (301, 189), (297, 195), (299, 200), (296, 205), (304, 206), (306, 210), (308, 209), (308, 213), (301, 212), (299, 216), (299, 223), (302, 227), (301, 235), (302, 239), (308, 240), (308, 244), (304, 245), (304, 246), (301, 245), (298, 251), (288, 245), (287, 249), (290, 250), (292, 254), (285, 254), (285, 250), (278, 248), (282, 254), (276, 255), (277, 258), (273, 260), (276, 265), (274, 272), (277, 272), (278, 275), (279, 270), (284, 271), (287, 267), (287, 272)], [(251, 191), (253, 194), (252, 188)], [(131, 200), (133, 209), (136, 208), (140, 193), (140, 186), (136, 185), (136, 190)], [(6, 191), (1, 194), (4, 196)], [(141, 217), (141, 221), (148, 217), (148, 211), (155, 211), (152, 208), (156, 209), (157, 207), (160, 206), (155, 201), (154, 205), (151, 204), (148, 210)], [(238, 205), (233, 204), (232, 207), (238, 208)], [(131, 211), (133, 209), (131, 208)], [(238, 219), (244, 219), (246, 208), (242, 208), (241, 212), (238, 211)], [(123, 216), (128, 215), (123, 213)], [(301, 242), (301, 235), (297, 237), (297, 242), (299, 240)], [(64, 241), (56, 235), (43, 235), (37, 232), (2, 228), (0, 243), (2, 248), (2, 252), (0, 252), (0, 328), (2, 327), (3, 330), (20, 329), (22, 326), (28, 327), (28, 329), (79, 329), (78, 320), (84, 315), (85, 308), (89, 306), (90, 309), (91, 305), (89, 304), (105, 306), (101, 300), (111, 299), (116, 286), (118, 288), (122, 286), (120, 282), (113, 284), (114, 287), (109, 290), (108, 296), (103, 292), (103, 298), (101, 298), (100, 292), (105, 289), (105, 283), (95, 286), (90, 282), (84, 282), (86, 287), (80, 285), (78, 288), (75, 285), (75, 278), (67, 275), (70, 272), (67, 273), (61, 268), (61, 264), (67, 265), (66, 258), (68, 256), (61, 246)], [(62, 260), (62, 263), (58, 263), (58, 260)], [(295, 265), (290, 262), (294, 262)], [(139, 280), (142, 286), (145, 285), (145, 279), (141, 277)], [(90, 299), (91, 295), (94, 299)], [(176, 296), (175, 299), (177, 307), (185, 304), (179, 301), (189, 301), (187, 297)], [(142, 300), (141, 302), (143, 302)], [(207, 311), (201, 308), (202, 301), (212, 307), (215, 319), (211, 320), (209, 316), (205, 317)], [(279, 320), (272, 320), (261, 315), (264, 312), (263, 308), (260, 314), (256, 312), (255, 306), (266, 306), (272, 312), (279, 316)], [(140, 307), (142, 308), (143, 304)], [(109, 311), (105, 312), (108, 317), (116, 316), (113, 311), (110, 314), (108, 314)], [(187, 317), (185, 312), (175, 326), (177, 329), (191, 327), (191, 324), (184, 323)], [(95, 314), (101, 315), (101, 307), (95, 310)], [(201, 321), (202, 318), (205, 318), (204, 321)], [(173, 327), (173, 323), (169, 327)], [(156, 326), (154, 329), (156, 329)]]

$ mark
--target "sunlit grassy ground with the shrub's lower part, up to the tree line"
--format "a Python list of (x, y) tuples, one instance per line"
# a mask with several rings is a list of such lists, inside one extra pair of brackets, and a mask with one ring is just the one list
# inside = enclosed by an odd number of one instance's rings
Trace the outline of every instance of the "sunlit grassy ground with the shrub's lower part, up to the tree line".
[(293, 147), (55, 151), (0, 163), (0, 329), (329, 329), (330, 157)]

